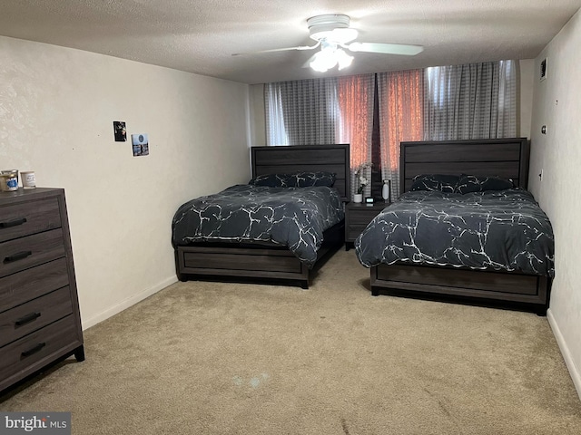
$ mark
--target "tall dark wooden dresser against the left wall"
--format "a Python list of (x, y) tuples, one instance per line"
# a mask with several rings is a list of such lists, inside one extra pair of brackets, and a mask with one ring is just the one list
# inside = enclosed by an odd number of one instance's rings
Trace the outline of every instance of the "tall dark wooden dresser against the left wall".
[(64, 189), (0, 192), (0, 391), (84, 360)]

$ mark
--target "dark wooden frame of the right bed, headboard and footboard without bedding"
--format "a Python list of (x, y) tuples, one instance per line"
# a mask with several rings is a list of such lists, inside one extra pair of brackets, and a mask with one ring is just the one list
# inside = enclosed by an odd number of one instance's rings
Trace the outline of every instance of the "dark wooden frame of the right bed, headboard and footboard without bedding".
[[(527, 138), (401, 142), (400, 193), (419, 174), (472, 174), (512, 179), (527, 189), (530, 144)], [(551, 280), (547, 276), (408, 263), (373, 266), (372, 295), (431, 298), (486, 304), (547, 314)]]

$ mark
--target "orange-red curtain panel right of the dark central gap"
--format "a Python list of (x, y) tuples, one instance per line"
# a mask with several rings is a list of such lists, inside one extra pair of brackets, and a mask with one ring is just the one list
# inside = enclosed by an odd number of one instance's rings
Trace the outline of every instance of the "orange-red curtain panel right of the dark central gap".
[(399, 142), (423, 137), (423, 70), (378, 74), (381, 178), (399, 198)]

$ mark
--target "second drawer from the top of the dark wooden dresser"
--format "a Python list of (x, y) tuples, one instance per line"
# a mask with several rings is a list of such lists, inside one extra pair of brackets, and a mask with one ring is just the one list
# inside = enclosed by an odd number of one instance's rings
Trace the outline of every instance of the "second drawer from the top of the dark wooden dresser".
[(42, 265), (64, 256), (62, 228), (0, 244), (0, 276)]

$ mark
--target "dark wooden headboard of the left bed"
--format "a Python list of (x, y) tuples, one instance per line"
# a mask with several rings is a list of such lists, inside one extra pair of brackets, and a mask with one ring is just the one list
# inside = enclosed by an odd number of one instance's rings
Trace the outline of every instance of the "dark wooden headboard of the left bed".
[(341, 199), (350, 196), (350, 146), (291, 145), (280, 147), (252, 147), (252, 177), (289, 173), (297, 170), (334, 172), (334, 188)]

